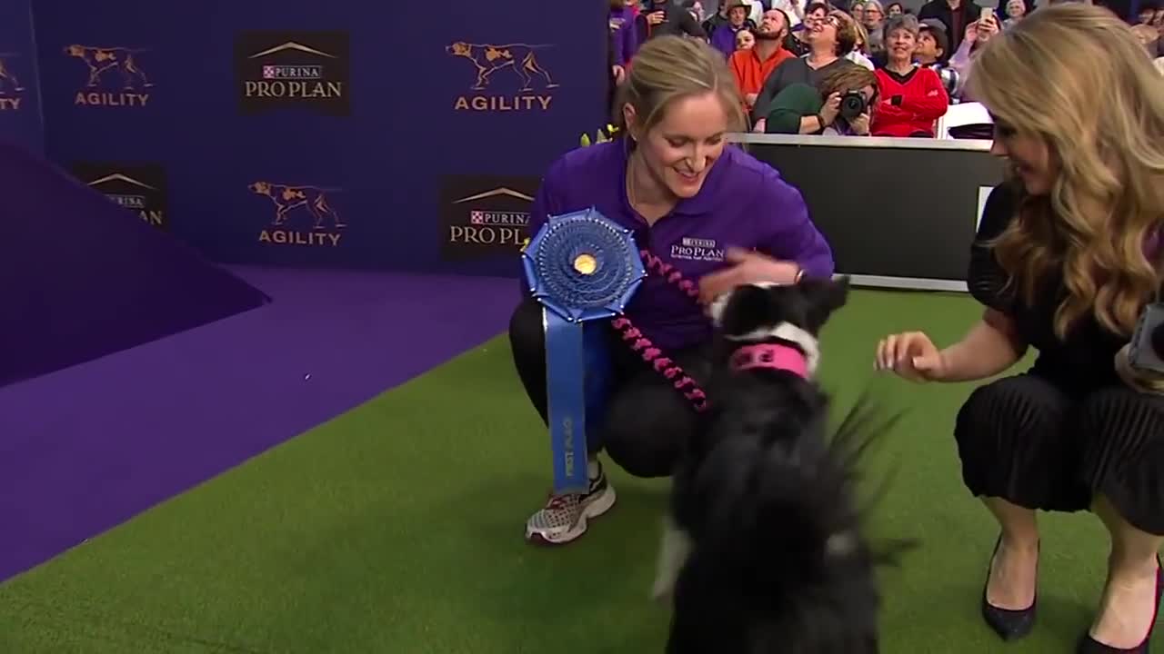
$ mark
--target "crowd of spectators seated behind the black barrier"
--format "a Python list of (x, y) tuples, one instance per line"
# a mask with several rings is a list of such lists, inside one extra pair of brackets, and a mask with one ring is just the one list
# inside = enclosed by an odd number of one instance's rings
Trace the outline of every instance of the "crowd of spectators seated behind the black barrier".
[[(728, 59), (753, 131), (934, 137), (951, 104), (973, 101), (965, 80), (979, 49), (1037, 10), (1034, 0), (979, 1), (995, 6), (610, 0), (610, 99), (639, 44), (682, 35), (707, 41)], [(1142, 0), (1129, 19), (1164, 73), (1158, 2)]]

